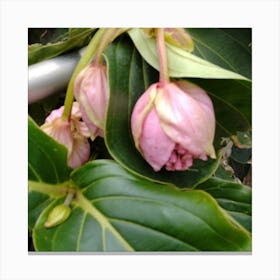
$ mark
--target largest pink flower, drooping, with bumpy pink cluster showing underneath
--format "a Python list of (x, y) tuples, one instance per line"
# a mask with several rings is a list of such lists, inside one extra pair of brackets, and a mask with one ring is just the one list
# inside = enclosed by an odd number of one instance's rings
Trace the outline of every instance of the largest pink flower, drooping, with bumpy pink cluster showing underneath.
[(131, 116), (136, 148), (159, 171), (187, 170), (193, 159), (215, 158), (215, 113), (206, 92), (186, 82), (152, 84)]

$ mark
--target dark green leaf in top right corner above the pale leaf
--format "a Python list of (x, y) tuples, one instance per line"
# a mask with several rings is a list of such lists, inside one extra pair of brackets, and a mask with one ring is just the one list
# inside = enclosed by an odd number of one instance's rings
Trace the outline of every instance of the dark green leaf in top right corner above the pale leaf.
[(194, 40), (193, 54), (251, 79), (250, 28), (188, 28)]

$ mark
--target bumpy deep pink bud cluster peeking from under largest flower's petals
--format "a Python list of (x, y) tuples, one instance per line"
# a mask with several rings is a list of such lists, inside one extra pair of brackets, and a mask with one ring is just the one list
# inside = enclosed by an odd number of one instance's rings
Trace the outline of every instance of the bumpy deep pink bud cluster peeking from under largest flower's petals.
[(180, 144), (176, 144), (169, 160), (165, 164), (166, 170), (187, 170), (193, 164), (193, 155)]

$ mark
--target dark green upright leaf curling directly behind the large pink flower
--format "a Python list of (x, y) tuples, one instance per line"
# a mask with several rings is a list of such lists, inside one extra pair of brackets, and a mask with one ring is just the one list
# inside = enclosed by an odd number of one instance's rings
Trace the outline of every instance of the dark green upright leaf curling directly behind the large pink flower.
[(122, 37), (105, 53), (110, 83), (105, 141), (110, 154), (131, 172), (158, 182), (191, 187), (205, 181), (218, 167), (218, 159), (195, 160), (192, 168), (185, 172), (154, 172), (135, 148), (130, 130), (132, 109), (145, 89), (158, 81), (158, 72), (142, 59), (127, 39)]

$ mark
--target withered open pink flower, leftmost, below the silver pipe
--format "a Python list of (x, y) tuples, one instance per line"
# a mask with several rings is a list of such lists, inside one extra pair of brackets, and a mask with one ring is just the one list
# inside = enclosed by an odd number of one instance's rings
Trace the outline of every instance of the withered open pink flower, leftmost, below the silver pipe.
[(81, 119), (79, 103), (74, 102), (70, 120), (63, 120), (64, 106), (53, 110), (46, 118), (41, 129), (57, 142), (64, 145), (68, 151), (68, 164), (77, 168), (88, 161), (90, 156), (90, 136), (88, 127)]

